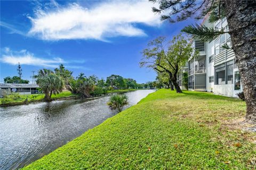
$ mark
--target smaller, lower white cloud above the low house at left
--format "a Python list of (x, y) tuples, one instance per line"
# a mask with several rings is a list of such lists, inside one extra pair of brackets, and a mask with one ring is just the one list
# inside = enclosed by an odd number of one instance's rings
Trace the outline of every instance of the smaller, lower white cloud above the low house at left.
[(19, 52), (12, 51), (10, 48), (4, 49), (4, 54), (1, 56), (1, 62), (17, 65), (18, 63), (24, 65), (44, 66), (44, 67), (58, 67), (60, 63), (66, 63), (62, 58), (54, 57), (51, 59), (35, 57), (33, 53), (29, 53), (26, 49)]

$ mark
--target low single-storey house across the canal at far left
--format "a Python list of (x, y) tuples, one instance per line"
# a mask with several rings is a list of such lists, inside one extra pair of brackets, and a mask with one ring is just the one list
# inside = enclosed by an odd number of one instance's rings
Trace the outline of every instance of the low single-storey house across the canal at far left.
[(21, 95), (37, 94), (39, 86), (37, 84), (21, 84), (21, 83), (0, 83), (0, 96), (4, 91), (8, 94), (18, 92)]

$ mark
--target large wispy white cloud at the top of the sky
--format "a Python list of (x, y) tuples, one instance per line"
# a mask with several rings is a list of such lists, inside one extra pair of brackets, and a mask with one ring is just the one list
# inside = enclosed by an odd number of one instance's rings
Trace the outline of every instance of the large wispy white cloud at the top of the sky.
[[(56, 4), (57, 5), (57, 4)], [(161, 24), (159, 15), (151, 11), (155, 4), (147, 1), (102, 2), (91, 8), (78, 4), (37, 10), (35, 17), (29, 17), (32, 28), (29, 35), (44, 40), (97, 39), (106, 40), (117, 36), (146, 36), (137, 24), (157, 27)]]

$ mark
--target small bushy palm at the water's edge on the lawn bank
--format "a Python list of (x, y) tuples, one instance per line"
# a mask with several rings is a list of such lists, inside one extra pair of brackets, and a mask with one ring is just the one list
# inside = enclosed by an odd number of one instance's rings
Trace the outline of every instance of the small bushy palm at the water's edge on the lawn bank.
[(125, 105), (128, 104), (128, 97), (126, 95), (115, 94), (110, 97), (108, 106), (111, 110), (115, 110), (118, 113), (122, 112), (122, 109)]

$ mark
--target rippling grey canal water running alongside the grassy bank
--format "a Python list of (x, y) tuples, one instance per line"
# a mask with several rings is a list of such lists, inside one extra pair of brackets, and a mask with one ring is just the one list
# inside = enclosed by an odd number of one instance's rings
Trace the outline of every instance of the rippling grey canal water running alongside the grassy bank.
[[(127, 92), (126, 108), (154, 91)], [(28, 165), (114, 116), (107, 106), (109, 97), (0, 108), (0, 169)]]

